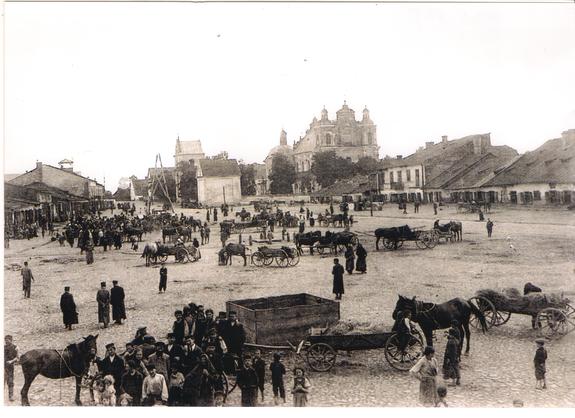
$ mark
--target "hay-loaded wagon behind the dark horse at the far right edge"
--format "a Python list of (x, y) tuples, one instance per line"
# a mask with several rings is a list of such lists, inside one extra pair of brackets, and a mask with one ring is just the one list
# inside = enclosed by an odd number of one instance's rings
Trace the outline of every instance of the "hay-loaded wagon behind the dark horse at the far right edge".
[[(509, 297), (492, 290), (480, 290), (470, 300), (483, 312), (488, 328), (505, 324), (514, 313), (531, 316), (533, 327), (545, 338), (560, 338), (575, 330), (575, 308), (563, 295), (533, 293), (531, 297), (539, 300), (530, 303), (528, 297), (515, 292), (517, 296)], [(470, 323), (480, 327), (475, 318)]]

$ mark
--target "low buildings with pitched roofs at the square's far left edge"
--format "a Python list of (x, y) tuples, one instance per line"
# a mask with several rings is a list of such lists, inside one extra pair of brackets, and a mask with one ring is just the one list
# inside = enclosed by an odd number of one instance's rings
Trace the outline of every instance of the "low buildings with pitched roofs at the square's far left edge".
[(74, 172), (73, 162), (59, 167), (37, 162), (24, 174), (6, 175), (4, 222), (7, 229), (40, 220), (64, 222), (74, 214), (110, 207), (111, 195), (94, 179)]

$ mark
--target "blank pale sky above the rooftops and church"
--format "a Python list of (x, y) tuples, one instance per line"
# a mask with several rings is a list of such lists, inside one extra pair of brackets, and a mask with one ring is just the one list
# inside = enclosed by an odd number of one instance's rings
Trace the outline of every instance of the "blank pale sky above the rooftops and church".
[(325, 106), (367, 106), (380, 157), (575, 128), (574, 4), (5, 4), (4, 172), (36, 161), (112, 192), (176, 138), (262, 162)]

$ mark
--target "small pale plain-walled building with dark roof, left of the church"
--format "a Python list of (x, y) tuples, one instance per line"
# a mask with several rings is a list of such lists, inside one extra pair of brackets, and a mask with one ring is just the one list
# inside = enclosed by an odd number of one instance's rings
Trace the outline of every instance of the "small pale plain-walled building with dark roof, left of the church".
[(217, 206), (241, 201), (240, 166), (234, 159), (202, 159), (198, 162), (198, 202)]

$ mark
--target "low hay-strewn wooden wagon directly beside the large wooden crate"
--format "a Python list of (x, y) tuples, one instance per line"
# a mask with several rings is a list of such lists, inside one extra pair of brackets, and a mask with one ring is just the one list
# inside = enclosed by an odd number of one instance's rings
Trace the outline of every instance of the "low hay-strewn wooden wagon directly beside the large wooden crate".
[(411, 369), (423, 353), (423, 340), (418, 333), (410, 335), (401, 350), (399, 335), (393, 331), (376, 334), (310, 335), (296, 349), (317, 372), (327, 372), (335, 365), (338, 351), (383, 349), (385, 359), (396, 370)]

